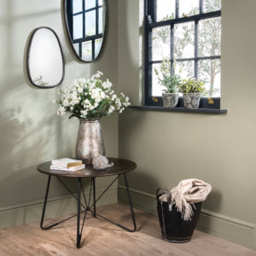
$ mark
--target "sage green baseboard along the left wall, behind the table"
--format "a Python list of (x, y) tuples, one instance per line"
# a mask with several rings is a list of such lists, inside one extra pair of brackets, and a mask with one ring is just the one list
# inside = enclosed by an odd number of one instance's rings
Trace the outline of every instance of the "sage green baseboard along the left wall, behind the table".
[[(108, 189), (108, 194), (104, 195), (97, 202), (97, 206), (104, 206), (117, 202), (117, 186)], [(101, 195), (104, 189), (96, 189), (96, 198)], [(89, 192), (85, 191), (85, 195)], [(83, 203), (83, 198), (81, 198)], [(8, 228), (15, 225), (28, 224), (34, 221), (40, 221), (44, 200), (33, 201), (27, 204), (15, 205), (0, 208), (0, 229)], [(55, 218), (67, 215), (77, 211), (77, 201), (72, 195), (63, 195), (49, 198), (45, 218)], [(38, 224), (39, 225), (39, 224)]]

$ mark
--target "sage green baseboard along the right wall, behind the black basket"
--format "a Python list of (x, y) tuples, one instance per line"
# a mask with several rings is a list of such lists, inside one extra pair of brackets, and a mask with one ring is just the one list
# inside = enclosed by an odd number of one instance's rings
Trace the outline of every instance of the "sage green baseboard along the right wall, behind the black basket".
[[(144, 212), (157, 215), (155, 196), (137, 189), (131, 190), (131, 199), (134, 207)], [(119, 185), (118, 200), (127, 204), (125, 187)], [(233, 241), (245, 247), (256, 249), (255, 224), (243, 222), (202, 209), (197, 229), (212, 236), (218, 236), (228, 241)]]

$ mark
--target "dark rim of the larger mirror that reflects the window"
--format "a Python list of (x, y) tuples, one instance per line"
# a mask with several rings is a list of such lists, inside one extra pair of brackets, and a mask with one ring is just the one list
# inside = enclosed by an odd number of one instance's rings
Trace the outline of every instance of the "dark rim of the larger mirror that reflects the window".
[(84, 61), (82, 58), (80, 58), (80, 56), (77, 54), (76, 50), (73, 47), (72, 38), (71, 38), (69, 28), (68, 28), (67, 1), (69, 1), (69, 0), (63, 0), (63, 17), (64, 17), (64, 20), (65, 20), (65, 22), (64, 22), (65, 31), (66, 31), (66, 34), (67, 34), (69, 45), (70, 45), (70, 47), (73, 51), (73, 55), (75, 55), (76, 58), (79, 61), (84, 62), (84, 63), (91, 63), (91, 62), (94, 62), (94, 61), (98, 61), (102, 57), (102, 52), (103, 52), (103, 49), (105, 48), (106, 40), (107, 40), (107, 37), (108, 37), (108, 0), (102, 0), (105, 4), (105, 15), (106, 15), (105, 26), (104, 26), (104, 30), (103, 30), (104, 33), (103, 33), (103, 37), (102, 37), (102, 47), (99, 51), (99, 54), (96, 56), (96, 58), (94, 60), (91, 60), (91, 61)]

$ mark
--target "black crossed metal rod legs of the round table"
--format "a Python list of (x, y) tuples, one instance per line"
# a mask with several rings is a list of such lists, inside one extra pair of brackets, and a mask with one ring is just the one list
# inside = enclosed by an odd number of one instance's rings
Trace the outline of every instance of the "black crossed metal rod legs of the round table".
[[(101, 199), (102, 195), (104, 195), (108, 191), (108, 189), (113, 185), (113, 183), (118, 179), (118, 177), (120, 175), (124, 175), (124, 177), (125, 177), (125, 187), (126, 187), (126, 192), (127, 192), (129, 205), (130, 205), (130, 208), (131, 208), (131, 219), (132, 219), (132, 222), (133, 222), (133, 229), (132, 230), (123, 226), (123, 225), (121, 225), (121, 224), (117, 224), (113, 220), (105, 218), (104, 216), (102, 216), (101, 214), (96, 212), (96, 202)], [(55, 227), (56, 225), (61, 224), (65, 221), (67, 221), (68, 219), (74, 218), (74, 217), (77, 216), (77, 247), (78, 248), (81, 245), (81, 238), (82, 238), (82, 233), (83, 233), (83, 229), (84, 229), (84, 223), (85, 223), (87, 212), (91, 212), (91, 214), (94, 218), (96, 218), (96, 217), (102, 218), (104, 220), (107, 220), (111, 224), (115, 224), (115, 225), (119, 226), (119, 228), (127, 230), (129, 232), (135, 232), (137, 230), (137, 225), (136, 225), (135, 215), (134, 215), (133, 207), (132, 207), (132, 203), (131, 203), (131, 194), (130, 194), (130, 189), (129, 189), (126, 173), (119, 174), (117, 177), (115, 177), (113, 179), (113, 182), (111, 182), (108, 185), (108, 187), (106, 189), (104, 189), (102, 194), (99, 195), (97, 199), (96, 199), (96, 177), (91, 177), (90, 178), (90, 194), (89, 194), (88, 201), (86, 200), (86, 197), (84, 195), (84, 187), (83, 187), (83, 184), (82, 184), (81, 177), (78, 177), (78, 197), (76, 197), (73, 194), (73, 192), (70, 189), (68, 189), (67, 185), (61, 180), (60, 177), (58, 177), (58, 176), (56, 176), (56, 177), (61, 182), (61, 184), (67, 189), (67, 191), (71, 195), (73, 195), (73, 197), (78, 202), (78, 213), (73, 214), (73, 216), (71, 216), (69, 218), (65, 218), (65, 219), (63, 219), (63, 220), (61, 220), (61, 221), (59, 221), (55, 224), (50, 224), (49, 226), (44, 227), (44, 214), (45, 214), (45, 209), (46, 209), (46, 205), (47, 205), (47, 199), (48, 199), (48, 194), (49, 194), (49, 184), (50, 184), (50, 179), (51, 179), (51, 175), (49, 175), (48, 183), (47, 183), (47, 187), (46, 187), (46, 192), (45, 192), (45, 197), (44, 197), (44, 208), (43, 208), (41, 224), (40, 224), (40, 227), (41, 227), (42, 230), (49, 230), (49, 229)], [(84, 197), (84, 204), (81, 203), (81, 191), (82, 191), (83, 197)], [(93, 194), (93, 196), (91, 196), (91, 194)], [(90, 204), (91, 197), (93, 198), (93, 203), (92, 204)], [(82, 207), (82, 211), (81, 211), (81, 207)], [(83, 219), (82, 225), (80, 226), (80, 214), (81, 213), (84, 213), (84, 219)]]

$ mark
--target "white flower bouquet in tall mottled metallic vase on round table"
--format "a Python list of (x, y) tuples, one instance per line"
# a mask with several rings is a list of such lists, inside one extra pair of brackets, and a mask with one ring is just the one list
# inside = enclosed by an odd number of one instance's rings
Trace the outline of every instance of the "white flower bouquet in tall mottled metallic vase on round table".
[(74, 80), (62, 90), (58, 90), (60, 99), (54, 101), (61, 105), (57, 114), (69, 113), (69, 118), (79, 119), (79, 133), (76, 144), (76, 159), (91, 164), (96, 155), (104, 155), (100, 119), (113, 112), (122, 113), (130, 105), (129, 98), (123, 93), (117, 96), (112, 83), (102, 81), (102, 73), (97, 72), (90, 79)]

